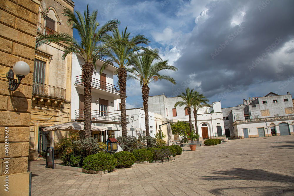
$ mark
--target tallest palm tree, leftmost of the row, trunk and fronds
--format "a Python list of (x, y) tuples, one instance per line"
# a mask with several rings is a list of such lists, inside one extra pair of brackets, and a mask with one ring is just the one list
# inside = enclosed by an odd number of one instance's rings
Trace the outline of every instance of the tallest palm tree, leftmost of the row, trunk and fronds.
[(77, 41), (68, 33), (55, 33), (53, 35), (39, 35), (36, 38), (36, 48), (44, 43), (64, 43), (65, 50), (62, 55), (65, 60), (68, 54), (80, 54), (85, 63), (82, 66), (82, 80), (84, 83), (84, 123), (85, 123), (85, 138), (91, 137), (91, 81), (93, 75), (93, 65), (96, 67), (96, 60), (105, 56), (111, 51), (113, 43), (123, 43), (123, 40), (114, 40), (109, 38), (108, 32), (113, 31), (118, 27), (119, 21), (113, 19), (100, 27), (97, 19), (97, 10), (91, 14), (88, 9), (84, 11), (84, 15), (78, 10), (72, 11), (68, 8), (64, 9), (64, 16), (67, 17), (67, 22), (71, 29), (76, 29), (81, 41)]

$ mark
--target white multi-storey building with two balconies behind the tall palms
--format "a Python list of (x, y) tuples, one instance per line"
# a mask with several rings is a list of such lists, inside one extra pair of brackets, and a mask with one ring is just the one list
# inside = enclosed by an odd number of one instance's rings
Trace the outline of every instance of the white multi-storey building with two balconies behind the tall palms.
[[(102, 74), (99, 70), (105, 61), (97, 60), (97, 72), (92, 78), (92, 125), (101, 126), (105, 131), (93, 131), (93, 137), (99, 142), (106, 142), (108, 138), (121, 135), (121, 114), (115, 113), (114, 101), (120, 98), (119, 87), (113, 85), (113, 73), (118, 69), (109, 65)], [(73, 54), (71, 79), (71, 120), (84, 120), (84, 85), (82, 82), (83, 58)], [(127, 118), (128, 119), (128, 118)]]

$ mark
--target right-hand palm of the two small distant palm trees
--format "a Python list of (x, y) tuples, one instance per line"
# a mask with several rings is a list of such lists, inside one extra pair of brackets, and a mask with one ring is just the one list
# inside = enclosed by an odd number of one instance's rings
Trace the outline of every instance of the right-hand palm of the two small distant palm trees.
[[(210, 106), (207, 102), (209, 100), (205, 98), (203, 94), (199, 94), (198, 91), (194, 91), (193, 94), (193, 103), (192, 103), (192, 108), (193, 108), (193, 115), (194, 115), (194, 120), (195, 120), (195, 130), (196, 134), (198, 134), (198, 126), (197, 126), (197, 110), (199, 108), (202, 108), (203, 106)], [(196, 139), (196, 141), (199, 141), (199, 138)]]

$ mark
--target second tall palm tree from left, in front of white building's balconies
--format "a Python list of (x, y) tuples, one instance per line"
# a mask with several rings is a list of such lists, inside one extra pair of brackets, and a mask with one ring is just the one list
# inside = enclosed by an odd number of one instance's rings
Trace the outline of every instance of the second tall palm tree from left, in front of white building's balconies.
[(122, 44), (114, 44), (112, 47), (112, 53), (108, 53), (107, 56), (109, 59), (103, 64), (100, 69), (100, 73), (109, 65), (109, 63), (117, 63), (118, 70), (118, 84), (119, 84), (119, 91), (120, 91), (120, 98), (121, 98), (121, 128), (122, 128), (122, 136), (127, 136), (127, 123), (126, 123), (126, 66), (129, 64), (130, 56), (138, 50), (144, 49), (141, 46), (137, 46), (140, 43), (148, 44), (149, 40), (143, 35), (133, 36), (130, 39), (130, 33), (127, 32), (127, 27), (125, 31), (121, 34), (119, 30), (116, 28), (113, 31), (112, 39), (125, 39), (129, 41), (130, 45), (122, 45)]

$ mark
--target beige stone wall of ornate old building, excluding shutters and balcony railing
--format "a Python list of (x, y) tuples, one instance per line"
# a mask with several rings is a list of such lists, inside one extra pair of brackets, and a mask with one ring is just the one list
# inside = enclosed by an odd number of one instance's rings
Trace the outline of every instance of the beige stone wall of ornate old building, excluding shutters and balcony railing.
[[(46, 17), (55, 20), (55, 31), (58, 33), (73, 34), (73, 30), (66, 23), (67, 17), (63, 16), (64, 8), (74, 9), (70, 0), (43, 0), (39, 6), (39, 19), (41, 33), (44, 33)], [(37, 48), (35, 58), (46, 63), (44, 84), (66, 89), (65, 100), (33, 96), (31, 102), (31, 122), (29, 138), (29, 160), (38, 158), (39, 127), (48, 127), (70, 122), (71, 110), (71, 63), (72, 55), (62, 60), (64, 45), (60, 43), (44, 44)], [(57, 104), (52, 102), (56, 101)], [(38, 103), (39, 102), (39, 103)], [(59, 105), (60, 104), (60, 105)], [(59, 140), (67, 136), (66, 132), (56, 131), (50, 133), (50, 146), (55, 148)]]

